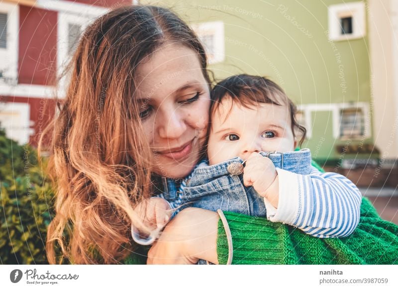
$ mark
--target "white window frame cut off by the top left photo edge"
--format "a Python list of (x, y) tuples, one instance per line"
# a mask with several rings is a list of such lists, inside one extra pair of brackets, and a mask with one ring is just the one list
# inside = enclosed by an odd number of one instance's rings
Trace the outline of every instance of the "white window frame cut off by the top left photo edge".
[[(0, 48), (0, 59), (7, 59), (8, 64), (0, 69), (8, 67), (4, 76), (11, 79), (11, 84), (16, 85), (18, 79), (18, 30), (19, 30), (19, 6), (14, 3), (0, 2), (0, 12), (7, 13), (7, 47)], [(10, 83), (2, 83), (1, 86), (11, 86)]]

